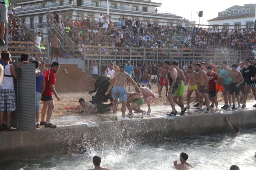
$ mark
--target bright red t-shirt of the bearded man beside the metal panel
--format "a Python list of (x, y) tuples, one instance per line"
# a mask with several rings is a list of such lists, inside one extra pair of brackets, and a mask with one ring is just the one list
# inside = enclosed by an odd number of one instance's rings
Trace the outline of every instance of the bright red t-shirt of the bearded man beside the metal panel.
[(56, 83), (55, 74), (51, 69), (49, 69), (43, 73), (43, 78), (45, 81), (45, 89), (44, 89), (43, 95), (52, 96), (53, 92), (51, 91), (50, 85), (54, 86)]

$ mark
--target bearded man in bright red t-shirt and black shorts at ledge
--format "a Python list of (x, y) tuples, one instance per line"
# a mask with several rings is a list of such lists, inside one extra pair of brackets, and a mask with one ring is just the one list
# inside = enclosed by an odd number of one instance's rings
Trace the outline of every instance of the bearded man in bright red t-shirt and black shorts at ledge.
[[(57, 127), (56, 125), (53, 125), (50, 123), (50, 118), (51, 118), (52, 111), (54, 109), (54, 102), (53, 102), (52, 94), (55, 95), (57, 101), (60, 101), (60, 97), (58, 96), (58, 94), (54, 88), (54, 85), (56, 83), (55, 74), (58, 72), (58, 70), (59, 70), (59, 63), (53, 62), (51, 64), (51, 69), (49, 69), (43, 73), (43, 78), (45, 81), (45, 89), (44, 89), (43, 95), (41, 97), (41, 101), (43, 101), (43, 106), (42, 106), (42, 111), (41, 111), (40, 125), (44, 125), (44, 127), (51, 127), (51, 128)], [(48, 109), (47, 109), (47, 107), (48, 107)], [(47, 109), (46, 121), (44, 121), (46, 109)]]

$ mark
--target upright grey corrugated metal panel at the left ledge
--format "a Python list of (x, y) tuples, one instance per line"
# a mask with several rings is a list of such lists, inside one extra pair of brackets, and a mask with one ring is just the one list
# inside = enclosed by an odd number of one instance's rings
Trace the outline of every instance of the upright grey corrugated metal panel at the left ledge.
[[(16, 63), (11, 63), (16, 67)], [(21, 64), (21, 73), (14, 81), (16, 111), (12, 112), (11, 125), (18, 129), (35, 131), (35, 64)]]

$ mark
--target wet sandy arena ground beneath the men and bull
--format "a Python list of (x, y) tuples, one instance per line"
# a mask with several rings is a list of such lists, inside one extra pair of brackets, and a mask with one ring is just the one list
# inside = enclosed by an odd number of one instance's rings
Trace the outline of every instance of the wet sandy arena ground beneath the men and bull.
[[(128, 87), (127, 87), (128, 88)], [(185, 92), (184, 92), (184, 97), (183, 97), (183, 102), (184, 102), (184, 106), (187, 105), (187, 88), (188, 86), (186, 86), (185, 88)], [(131, 91), (134, 88), (131, 87)], [(167, 98), (165, 97), (165, 87), (163, 87), (162, 90), (162, 94), (161, 94), (161, 98), (157, 97), (157, 86), (155, 83), (152, 84), (152, 89), (153, 93), (155, 94), (156, 98), (153, 102), (151, 102), (151, 111), (152, 113), (150, 115), (147, 115), (146, 118), (150, 118), (150, 117), (161, 117), (161, 116), (165, 116), (164, 114), (167, 114), (171, 111), (171, 106), (167, 100)], [(56, 89), (56, 91), (58, 91), (58, 89)], [(56, 124), (58, 126), (63, 126), (63, 125), (74, 125), (74, 124), (84, 124), (87, 123), (88, 121), (92, 121), (92, 122), (102, 122), (102, 121), (111, 121), (113, 120), (113, 112), (107, 112), (107, 113), (97, 113), (97, 114), (86, 114), (86, 113), (80, 113), (79, 109), (65, 109), (65, 107), (70, 107), (73, 105), (78, 105), (78, 100), (79, 98), (84, 98), (85, 100), (91, 100), (92, 95), (95, 95), (95, 93), (93, 94), (89, 94), (88, 91), (84, 91), (84, 92), (59, 92), (58, 95), (61, 98), (61, 101), (58, 102), (56, 100), (55, 97), (53, 97), (54, 100), (54, 104), (55, 104), (55, 108), (53, 110), (52, 113), (52, 117), (51, 117), (51, 123)], [(218, 93), (217, 95), (217, 99), (218, 99), (218, 103), (219, 103), (219, 108), (222, 107), (224, 105), (224, 98), (222, 96), (222, 93)], [(248, 96), (248, 101), (247, 101), (247, 108), (246, 109), (253, 109), (252, 105), (255, 104), (255, 100), (253, 97), (253, 94), (249, 94)], [(190, 99), (190, 109), (188, 109), (186, 111), (186, 114), (203, 114), (204, 112), (195, 112), (195, 110), (197, 109), (197, 107), (194, 107), (193, 105), (196, 104), (197, 102), (196, 100), (196, 95), (193, 92), (193, 94), (191, 95), (191, 99)], [(211, 104), (211, 101), (210, 101)], [(40, 108), (42, 107), (42, 103), (40, 103)], [(236, 104), (236, 108), (237, 108), (237, 104)], [(146, 103), (144, 102), (144, 104), (141, 106), (142, 110), (148, 110)], [(176, 105), (176, 110), (178, 111), (178, 113), (181, 111), (180, 107), (178, 105)], [(41, 112), (41, 109), (40, 109)], [(126, 109), (126, 114), (128, 114), (128, 109)], [(232, 111), (226, 111), (226, 110), (215, 110), (215, 108), (211, 109), (211, 112), (220, 112), (224, 114), (231, 114)], [(121, 119), (121, 104), (118, 105), (118, 120)], [(177, 114), (179, 115), (179, 114)], [(133, 115), (129, 115), (127, 116), (128, 118), (140, 118), (141, 117), (141, 113), (134, 113)], [(39, 120), (41, 119), (41, 115)]]

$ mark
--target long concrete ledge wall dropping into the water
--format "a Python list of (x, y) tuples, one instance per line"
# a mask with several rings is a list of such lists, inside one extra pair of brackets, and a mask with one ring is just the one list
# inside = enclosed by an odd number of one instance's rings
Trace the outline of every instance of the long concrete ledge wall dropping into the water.
[[(159, 114), (158, 117), (131, 119), (125, 121), (129, 136), (137, 143), (161, 141), (165, 137), (180, 138), (211, 132), (230, 130), (225, 122), (225, 115), (220, 113), (203, 113), (168, 117)], [(256, 127), (256, 109), (234, 111), (229, 114), (233, 126), (242, 128)], [(14, 130), (0, 132), (0, 160), (17, 157), (63, 154), (67, 151), (68, 139), (73, 144), (79, 143), (83, 133), (91, 145), (108, 145), (120, 143), (126, 134), (120, 121), (94, 123), (82, 122), (81, 125), (62, 126), (55, 129), (41, 128), (36, 132)]]

